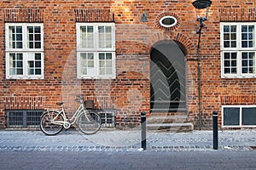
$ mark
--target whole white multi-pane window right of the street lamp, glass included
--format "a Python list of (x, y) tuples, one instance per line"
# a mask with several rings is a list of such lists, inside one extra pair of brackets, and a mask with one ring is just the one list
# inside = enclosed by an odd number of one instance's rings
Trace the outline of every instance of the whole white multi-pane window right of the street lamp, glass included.
[(221, 23), (221, 76), (256, 77), (256, 23)]

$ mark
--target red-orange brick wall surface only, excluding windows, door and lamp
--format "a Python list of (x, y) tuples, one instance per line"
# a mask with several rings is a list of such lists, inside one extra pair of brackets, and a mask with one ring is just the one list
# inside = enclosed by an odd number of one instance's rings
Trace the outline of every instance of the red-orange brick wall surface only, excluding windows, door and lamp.
[[(0, 2), (0, 126), (6, 110), (44, 109), (66, 101), (77, 105), (84, 94), (100, 109), (117, 111), (117, 127), (137, 127), (140, 112), (150, 109), (150, 49), (174, 40), (187, 59), (186, 100), (189, 117), (198, 126), (197, 54), (199, 23), (190, 0), (178, 1), (2, 1)], [(202, 122), (211, 127), (212, 111), (222, 105), (255, 105), (255, 78), (221, 78), (220, 22), (256, 21), (253, 1), (212, 1), (209, 20), (201, 35)], [(143, 23), (141, 14), (148, 15)], [(199, 11), (197, 11), (199, 12)], [(160, 26), (162, 16), (177, 18), (177, 25)], [(44, 23), (44, 79), (6, 79), (5, 23)], [(78, 79), (76, 23), (114, 22), (116, 78)], [(221, 117), (219, 117), (221, 120)]]

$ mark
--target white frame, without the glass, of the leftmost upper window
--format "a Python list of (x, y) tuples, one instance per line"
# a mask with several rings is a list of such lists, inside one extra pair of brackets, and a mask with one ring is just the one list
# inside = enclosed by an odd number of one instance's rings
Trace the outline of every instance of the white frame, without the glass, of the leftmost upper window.
[[(10, 33), (9, 26), (21, 26), (22, 29), (22, 48), (11, 48), (10, 47)], [(28, 42), (28, 26), (40, 26), (40, 48), (29, 48)], [(6, 47), (6, 78), (7, 79), (44, 79), (44, 24), (43, 23), (6, 23), (5, 24), (5, 47)], [(22, 75), (11, 75), (10, 69), (10, 54), (22, 54)], [(41, 74), (40, 75), (29, 75), (28, 72), (28, 61), (35, 59), (30, 59), (29, 55), (40, 54), (41, 55)], [(34, 55), (35, 56), (35, 55)]]

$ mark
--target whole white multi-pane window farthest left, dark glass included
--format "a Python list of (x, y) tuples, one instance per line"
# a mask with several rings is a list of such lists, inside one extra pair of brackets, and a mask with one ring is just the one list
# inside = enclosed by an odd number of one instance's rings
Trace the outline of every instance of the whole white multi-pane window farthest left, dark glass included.
[(44, 78), (44, 25), (6, 23), (6, 78)]

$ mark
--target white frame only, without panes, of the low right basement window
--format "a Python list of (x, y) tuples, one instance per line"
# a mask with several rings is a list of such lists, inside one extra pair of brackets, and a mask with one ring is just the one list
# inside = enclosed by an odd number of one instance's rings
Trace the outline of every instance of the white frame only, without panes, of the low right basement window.
[[(243, 108), (255, 108), (256, 105), (222, 105), (221, 117), (222, 117), (222, 127), (256, 127), (256, 125), (242, 125), (241, 117)], [(224, 108), (239, 108), (239, 125), (224, 125)]]

